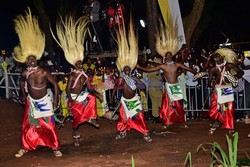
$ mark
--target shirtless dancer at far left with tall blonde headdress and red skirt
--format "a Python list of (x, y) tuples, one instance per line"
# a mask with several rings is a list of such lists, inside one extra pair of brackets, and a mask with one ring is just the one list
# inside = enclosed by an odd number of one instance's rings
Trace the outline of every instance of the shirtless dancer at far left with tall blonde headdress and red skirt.
[[(61, 157), (60, 143), (55, 127), (54, 109), (58, 105), (58, 88), (53, 76), (37, 66), (45, 47), (45, 36), (39, 29), (37, 18), (30, 9), (26, 16), (19, 15), (15, 20), (15, 30), (20, 46), (14, 49), (14, 59), (28, 65), (21, 73), (21, 90), (25, 101), (22, 125), (21, 149), (15, 154), (22, 157), (38, 145), (53, 149), (56, 157)], [(47, 81), (54, 86), (54, 101), (47, 92)], [(28, 95), (26, 96), (26, 93)]]

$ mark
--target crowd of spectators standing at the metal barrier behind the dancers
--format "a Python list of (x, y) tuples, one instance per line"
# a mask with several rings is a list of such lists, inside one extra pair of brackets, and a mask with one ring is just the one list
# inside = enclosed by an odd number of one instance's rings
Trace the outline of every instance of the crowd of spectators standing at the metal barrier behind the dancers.
[[(216, 48), (214, 48), (214, 50), (215, 49)], [(187, 45), (183, 45), (180, 51), (174, 55), (173, 59), (178, 63), (183, 63), (184, 65), (195, 69), (197, 72), (208, 72), (210, 68), (215, 66), (213, 59), (211, 59), (214, 50), (202, 49), (200, 52), (195, 52)], [(244, 110), (244, 108), (250, 108), (250, 93), (248, 92), (250, 90), (250, 80), (248, 79), (250, 60), (249, 58), (245, 58), (243, 52), (236, 51), (236, 53), (238, 55), (238, 65), (245, 70), (245, 75), (243, 78), (239, 79), (239, 85), (234, 89), (235, 102), (237, 103), (235, 118), (237, 121), (243, 121), (243, 119), (247, 118), (249, 115), (249, 111)], [(119, 89), (119, 85), (121, 84), (121, 73), (118, 71), (115, 62), (115, 57), (87, 57), (83, 64), (83, 70), (89, 77), (85, 91), (96, 94), (97, 97), (99, 96), (99, 108), (101, 108), (100, 110), (104, 113), (108, 110), (114, 109), (121, 98), (121, 91), (117, 91), (114, 99), (111, 98), (114, 87), (118, 86)], [(15, 62), (12, 58), (12, 54), (8, 52), (0, 56), (0, 63), (0, 80), (4, 77), (5, 69), (14, 73), (19, 73), (25, 69), (24, 66)], [(156, 66), (164, 63), (164, 59), (159, 55), (145, 53), (139, 55), (138, 63), (144, 67)], [(58, 82), (64, 81), (66, 83), (65, 78), (67, 78), (67, 75), (71, 71), (71, 66), (69, 64), (60, 65), (59, 63), (51, 63), (48, 58), (41, 59), (39, 65), (52, 72)], [(162, 77), (162, 72), (145, 73), (135, 69), (132, 74), (136, 81), (138, 87), (137, 93), (141, 96), (144, 110), (149, 111), (147, 112), (148, 117), (151, 117), (153, 118), (153, 121), (158, 122), (161, 94), (162, 89), (164, 89), (164, 78)], [(204, 113), (206, 112), (199, 111), (201, 111), (203, 107), (205, 107), (205, 109), (209, 108), (209, 103), (206, 103), (206, 105), (203, 106), (205, 98), (211, 91), (211, 88), (207, 85), (207, 80), (202, 79), (193, 81), (192, 78), (193, 74), (186, 71), (179, 71), (179, 82), (184, 86), (183, 92), (186, 94), (184, 100), (185, 109), (188, 111), (187, 119), (202, 118), (205, 116)], [(18, 85), (19, 77), (15, 76), (13, 79)], [(2, 82), (1, 86), (4, 86), (4, 82)], [(96, 92), (96, 90), (98, 91)], [(4, 92), (4, 89), (1, 89), (1, 97), (5, 97)], [(100, 92), (102, 92), (101, 98)], [(201, 95), (203, 98), (201, 98)], [(103, 104), (103, 101), (105, 104)]]

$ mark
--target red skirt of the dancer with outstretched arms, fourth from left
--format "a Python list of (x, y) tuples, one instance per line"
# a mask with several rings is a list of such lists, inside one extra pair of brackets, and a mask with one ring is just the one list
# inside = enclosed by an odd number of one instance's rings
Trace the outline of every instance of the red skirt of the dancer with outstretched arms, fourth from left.
[(184, 123), (185, 111), (183, 109), (183, 100), (174, 101), (169, 105), (169, 99), (166, 92), (162, 95), (162, 104), (160, 110), (160, 118), (165, 125), (173, 125), (176, 122)]

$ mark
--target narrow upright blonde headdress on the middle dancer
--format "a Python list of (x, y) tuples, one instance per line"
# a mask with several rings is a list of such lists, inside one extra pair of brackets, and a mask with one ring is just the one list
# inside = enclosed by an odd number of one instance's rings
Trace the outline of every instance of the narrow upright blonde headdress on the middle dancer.
[(116, 31), (118, 58), (116, 65), (119, 71), (123, 71), (124, 67), (130, 67), (131, 71), (135, 68), (138, 59), (138, 39), (135, 35), (133, 21), (130, 18), (128, 34), (126, 33), (125, 24)]

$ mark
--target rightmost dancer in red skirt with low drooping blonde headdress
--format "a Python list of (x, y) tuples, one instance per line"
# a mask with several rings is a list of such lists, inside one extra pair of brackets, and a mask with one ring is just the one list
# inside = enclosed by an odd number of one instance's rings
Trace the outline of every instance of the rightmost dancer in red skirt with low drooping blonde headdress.
[[(227, 48), (216, 50), (214, 55), (216, 67), (209, 72), (208, 83), (211, 85), (212, 79), (215, 79), (215, 90), (211, 100), (209, 116), (212, 121), (209, 133), (213, 134), (222, 123), (222, 129), (234, 131), (234, 95), (232, 86), (237, 86), (237, 78), (243, 76), (244, 72), (235, 64), (236, 54)], [(237, 77), (237, 78), (235, 78)], [(219, 122), (218, 122), (219, 121)]]

